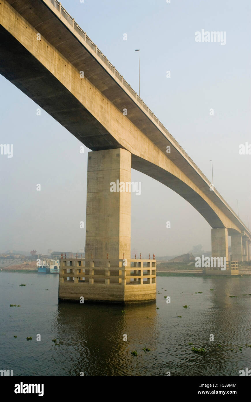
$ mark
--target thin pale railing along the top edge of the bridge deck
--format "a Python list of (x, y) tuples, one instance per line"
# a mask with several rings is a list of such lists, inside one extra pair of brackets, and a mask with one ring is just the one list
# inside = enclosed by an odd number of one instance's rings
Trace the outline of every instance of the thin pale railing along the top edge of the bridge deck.
[[(115, 69), (115, 67), (107, 60), (106, 56), (103, 55), (103, 53), (97, 48), (97, 45), (91, 41), (91, 39), (86, 35), (86, 33), (77, 25), (75, 22), (74, 18), (70, 16), (70, 14), (61, 6), (61, 3), (58, 0), (49, 0), (53, 6), (61, 13), (61, 15), (66, 19), (66, 21), (71, 24), (71, 26), (75, 29), (75, 31), (84, 39), (84, 41), (91, 47), (91, 49), (97, 54), (97, 57), (99, 57), (105, 65), (113, 72), (113, 74), (119, 79), (121, 84), (127, 88), (128, 91), (134, 96), (134, 98), (142, 105), (142, 107), (145, 109), (145, 111), (154, 119), (154, 121), (158, 124), (158, 126), (166, 133), (167, 136), (169, 136), (176, 147), (178, 148), (179, 151), (181, 151), (182, 156), (186, 157), (186, 159), (190, 162), (190, 164), (200, 173), (200, 176), (202, 176), (205, 180), (205, 182), (208, 184), (208, 186), (211, 185), (211, 181), (208, 180), (208, 178), (202, 173), (200, 168), (194, 163), (194, 161), (188, 156), (188, 154), (184, 151), (182, 146), (176, 141), (176, 139), (172, 136), (172, 134), (169, 133), (169, 131), (164, 127), (164, 125), (159, 121), (159, 119), (154, 115), (154, 113), (149, 109), (149, 107), (143, 102), (143, 100), (138, 96), (137, 92), (135, 92), (132, 87), (126, 82), (126, 80), (119, 74), (119, 72)], [(225, 205), (230, 209), (230, 211), (237, 217), (235, 211), (230, 207), (230, 205), (227, 203), (227, 201), (221, 196), (219, 191), (217, 191), (215, 188), (213, 188), (213, 191), (218, 195), (218, 197), (224, 201)], [(237, 218), (238, 219), (238, 218)], [(245, 226), (243, 224), (243, 226)]]

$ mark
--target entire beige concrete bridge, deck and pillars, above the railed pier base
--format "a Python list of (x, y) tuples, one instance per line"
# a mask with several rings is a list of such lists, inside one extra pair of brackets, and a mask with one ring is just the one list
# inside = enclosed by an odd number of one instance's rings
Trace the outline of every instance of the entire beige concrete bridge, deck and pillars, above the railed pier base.
[[(112, 193), (110, 183), (130, 183), (131, 168), (197, 209), (212, 228), (212, 256), (229, 259), (229, 235), (232, 260), (250, 260), (251, 232), (57, 0), (0, 1), (0, 74), (94, 151), (87, 172), (88, 264), (93, 253), (101, 269), (107, 251), (114, 268), (130, 260), (131, 193)], [(152, 287), (146, 299), (153, 298), (156, 283), (144, 286)]]

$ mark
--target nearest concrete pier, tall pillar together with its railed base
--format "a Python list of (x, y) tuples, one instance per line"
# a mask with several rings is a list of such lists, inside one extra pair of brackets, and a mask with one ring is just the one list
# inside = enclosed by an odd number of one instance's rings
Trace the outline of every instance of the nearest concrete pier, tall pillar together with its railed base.
[(88, 153), (85, 260), (61, 258), (59, 300), (156, 300), (156, 260), (130, 258), (131, 187), (126, 183), (131, 183), (130, 152)]

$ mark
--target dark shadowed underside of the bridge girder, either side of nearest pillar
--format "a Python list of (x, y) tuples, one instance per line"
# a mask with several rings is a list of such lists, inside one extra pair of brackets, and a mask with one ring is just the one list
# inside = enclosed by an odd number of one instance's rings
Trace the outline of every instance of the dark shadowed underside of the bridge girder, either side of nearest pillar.
[[(87, 148), (93, 151), (124, 148), (76, 96), (2, 26), (0, 57), (0, 74), (34, 100)], [(132, 168), (178, 193), (196, 208), (212, 227), (225, 227), (222, 219), (208, 206), (202, 193), (199, 195), (171, 172), (133, 153)]]

